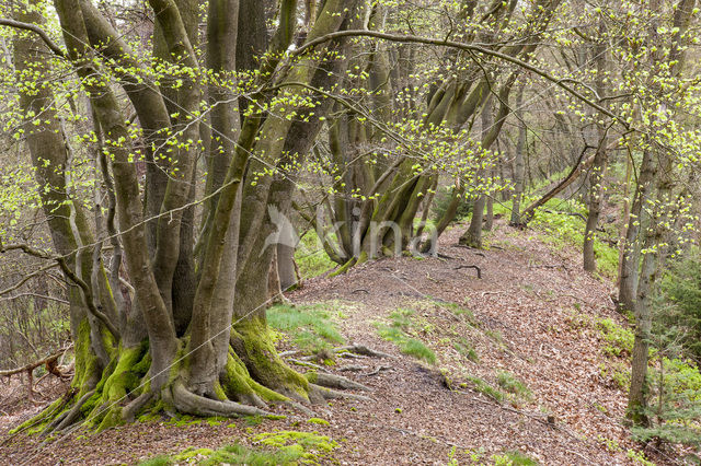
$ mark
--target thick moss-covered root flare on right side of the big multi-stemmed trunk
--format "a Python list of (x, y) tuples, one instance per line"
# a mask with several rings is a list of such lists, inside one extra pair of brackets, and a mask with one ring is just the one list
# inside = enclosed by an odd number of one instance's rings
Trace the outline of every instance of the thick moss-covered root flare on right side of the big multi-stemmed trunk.
[(301, 403), (319, 403), (309, 396), (309, 382), (277, 356), (265, 321), (260, 317), (239, 323), (231, 333), (231, 347), (258, 385)]

